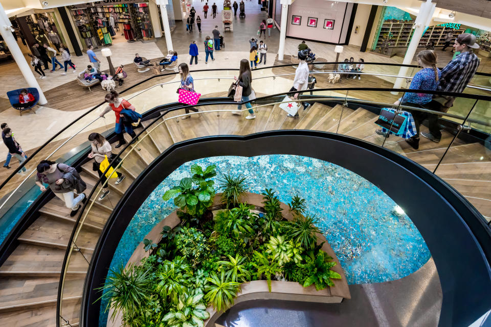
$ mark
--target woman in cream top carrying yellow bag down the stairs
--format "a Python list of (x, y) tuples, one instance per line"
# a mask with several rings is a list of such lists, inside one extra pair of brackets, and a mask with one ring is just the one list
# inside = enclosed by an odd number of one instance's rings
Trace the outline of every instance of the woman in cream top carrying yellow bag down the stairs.
[[(99, 178), (101, 179), (103, 191), (101, 193), (101, 196), (99, 196), (99, 201), (102, 201), (104, 197), (109, 194), (110, 191), (108, 189), (108, 184), (106, 184), (107, 178), (100, 169), (101, 162), (104, 161), (106, 157), (107, 160), (111, 160), (111, 157), (113, 156), (113, 148), (111, 148), (111, 144), (99, 133), (91, 133), (88, 136), (88, 140), (91, 141), (92, 151), (90, 154), (88, 154), (87, 157), (90, 159), (94, 159), (94, 162), (92, 163), (92, 170), (97, 171), (97, 173), (99, 174)], [(116, 163), (112, 161), (110, 162), (109, 166), (115, 168)], [(119, 171), (116, 171), (115, 173), (118, 179), (114, 184), (118, 185), (124, 180), (125, 176)]]

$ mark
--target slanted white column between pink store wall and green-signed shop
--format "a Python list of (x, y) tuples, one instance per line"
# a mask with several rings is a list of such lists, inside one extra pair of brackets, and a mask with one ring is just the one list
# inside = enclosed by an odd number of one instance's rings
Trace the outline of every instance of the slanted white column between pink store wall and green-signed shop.
[[(414, 29), (413, 37), (409, 42), (408, 49), (406, 51), (406, 55), (404, 56), (403, 65), (410, 65), (413, 61), (414, 55), (416, 54), (416, 50), (418, 48), (419, 41), (423, 36), (423, 32), (426, 27), (429, 26), (430, 21), (433, 17), (433, 13), (435, 12), (435, 4), (431, 3), (431, 0), (427, 0), (426, 3), (421, 4), (419, 8), (418, 16), (414, 21), (416, 28)], [(409, 67), (400, 67), (398, 76), (407, 76)], [(399, 89), (403, 83), (406, 82), (406, 79), (398, 78), (395, 80), (394, 89)], [(397, 94), (398, 92), (391, 92), (392, 94)]]

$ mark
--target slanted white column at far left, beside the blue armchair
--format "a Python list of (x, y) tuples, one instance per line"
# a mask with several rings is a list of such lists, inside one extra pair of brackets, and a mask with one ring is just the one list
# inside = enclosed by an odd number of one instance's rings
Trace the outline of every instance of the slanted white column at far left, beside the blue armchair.
[(7, 44), (12, 57), (14, 58), (17, 66), (20, 69), (20, 72), (23, 74), (24, 79), (27, 82), (29, 87), (35, 87), (39, 92), (39, 104), (46, 105), (48, 101), (44, 94), (42, 93), (39, 84), (37, 83), (36, 77), (34, 76), (33, 71), (31, 70), (31, 66), (27, 63), (26, 58), (24, 57), (22, 51), (19, 48), (19, 45), (15, 41), (10, 28), (12, 24), (10, 23), (9, 17), (4, 11), (4, 7), (0, 4), (0, 34), (4, 38), (5, 43)]

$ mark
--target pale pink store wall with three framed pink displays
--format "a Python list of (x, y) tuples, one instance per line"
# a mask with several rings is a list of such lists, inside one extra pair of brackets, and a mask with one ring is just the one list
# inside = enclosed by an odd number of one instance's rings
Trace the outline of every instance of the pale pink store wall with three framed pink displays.
[[(325, 0), (295, 1), (288, 8), (286, 36), (344, 44), (352, 9), (352, 3)], [(302, 16), (301, 25), (292, 24), (293, 15)], [(317, 27), (307, 26), (308, 17), (317, 18)], [(333, 30), (324, 29), (324, 19), (334, 20)]]

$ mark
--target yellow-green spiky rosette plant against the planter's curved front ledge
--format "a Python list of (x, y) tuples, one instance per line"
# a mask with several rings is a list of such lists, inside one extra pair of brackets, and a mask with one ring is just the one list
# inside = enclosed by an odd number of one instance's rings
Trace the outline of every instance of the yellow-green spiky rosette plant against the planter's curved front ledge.
[(240, 283), (232, 282), (225, 277), (225, 270), (220, 277), (215, 272), (207, 278), (210, 285), (206, 288), (205, 299), (213, 305), (216, 311), (225, 311), (234, 304), (234, 297), (240, 291)]

